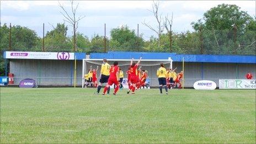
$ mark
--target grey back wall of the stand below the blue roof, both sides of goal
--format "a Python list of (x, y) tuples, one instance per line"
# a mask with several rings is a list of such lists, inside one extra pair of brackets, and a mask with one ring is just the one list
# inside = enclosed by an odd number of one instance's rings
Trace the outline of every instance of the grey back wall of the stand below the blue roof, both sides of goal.
[[(248, 63), (200, 63), (185, 62), (185, 86), (193, 86), (200, 79), (211, 79), (218, 86), (218, 79), (243, 79), (247, 71), (256, 76), (255, 64)], [(173, 62), (173, 68), (182, 71), (182, 62)], [(74, 84), (74, 61), (59, 60), (10, 60), (10, 73), (14, 73), (14, 83), (24, 78), (33, 78), (40, 85), (71, 85)], [(77, 61), (77, 84), (82, 84), (82, 61)]]

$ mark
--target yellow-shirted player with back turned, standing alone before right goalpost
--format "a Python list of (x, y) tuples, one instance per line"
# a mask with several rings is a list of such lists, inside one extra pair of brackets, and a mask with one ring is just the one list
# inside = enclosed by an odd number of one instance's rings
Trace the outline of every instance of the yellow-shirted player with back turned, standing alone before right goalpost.
[(166, 94), (168, 94), (168, 88), (166, 86), (166, 68), (164, 68), (163, 63), (160, 64), (160, 68), (157, 71), (157, 76), (158, 76), (158, 82), (159, 82), (159, 90), (160, 93), (162, 93), (162, 89), (166, 89)]

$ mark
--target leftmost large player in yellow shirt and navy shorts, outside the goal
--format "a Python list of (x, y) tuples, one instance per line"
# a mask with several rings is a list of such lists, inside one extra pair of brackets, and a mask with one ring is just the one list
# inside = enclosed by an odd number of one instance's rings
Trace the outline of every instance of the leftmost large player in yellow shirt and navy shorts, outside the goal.
[[(106, 58), (103, 59), (102, 63), (102, 69), (100, 70), (100, 79), (99, 79), (99, 85), (97, 88), (97, 92), (95, 94), (99, 94), (100, 89), (102, 88), (102, 84), (108, 82), (109, 79), (109, 70), (110, 70), (110, 65)], [(108, 89), (108, 94), (110, 91), (110, 87)]]

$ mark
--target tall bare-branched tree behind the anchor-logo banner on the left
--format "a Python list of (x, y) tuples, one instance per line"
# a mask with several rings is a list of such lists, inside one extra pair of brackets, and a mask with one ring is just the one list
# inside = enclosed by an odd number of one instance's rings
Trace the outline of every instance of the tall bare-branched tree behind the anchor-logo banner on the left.
[(83, 19), (86, 16), (83, 15), (83, 16), (80, 16), (80, 17), (77, 18), (76, 17), (76, 12), (77, 12), (77, 8), (78, 8), (79, 3), (77, 3), (76, 6), (73, 6), (74, 1), (71, 0), (70, 2), (71, 2), (71, 10), (72, 10), (71, 14), (67, 13), (67, 10), (64, 8), (63, 4), (61, 5), (60, 2), (58, 2), (58, 4), (64, 12), (64, 13), (61, 12), (63, 17), (65, 18), (63, 20), (67, 23), (70, 23), (71, 26), (73, 27), (73, 51), (77, 51), (76, 33), (77, 33), (77, 28), (78, 28), (78, 22), (79, 22), (79, 20)]

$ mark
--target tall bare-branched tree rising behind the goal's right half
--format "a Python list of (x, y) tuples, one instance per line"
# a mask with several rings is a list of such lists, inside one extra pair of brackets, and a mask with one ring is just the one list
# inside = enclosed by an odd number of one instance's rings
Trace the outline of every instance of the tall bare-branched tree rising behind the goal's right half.
[(162, 14), (159, 14), (159, 1), (153, 1), (152, 4), (152, 10), (150, 10), (154, 14), (154, 18), (157, 20), (157, 28), (153, 28), (150, 24), (146, 23), (145, 20), (142, 23), (143, 25), (146, 25), (148, 28), (153, 30), (157, 35), (158, 35), (158, 49), (160, 48), (161, 45), (161, 34), (163, 33), (164, 30), (164, 25), (162, 21)]

